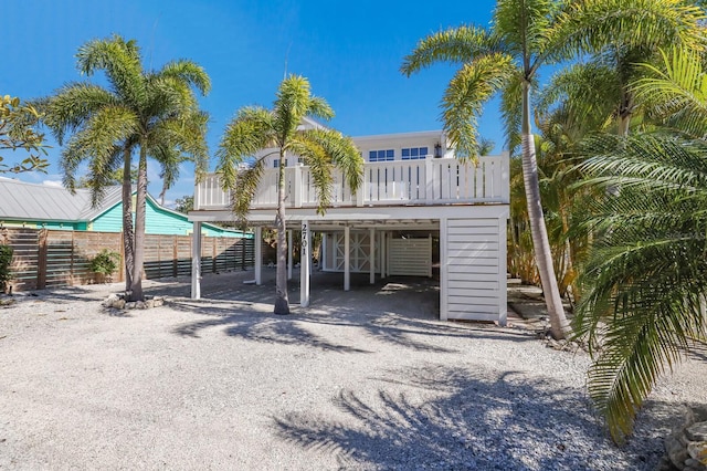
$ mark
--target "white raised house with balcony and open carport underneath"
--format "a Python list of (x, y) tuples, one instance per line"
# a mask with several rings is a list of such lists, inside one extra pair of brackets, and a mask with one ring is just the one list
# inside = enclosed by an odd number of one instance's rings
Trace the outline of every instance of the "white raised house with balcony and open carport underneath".
[[(303, 126), (320, 126), (305, 121)], [(440, 318), (506, 322), (506, 221), (509, 203), (509, 158), (485, 156), (478, 164), (455, 157), (443, 132), (355, 137), (366, 160), (363, 184), (356, 193), (344, 176), (335, 175), (331, 207), (317, 214), (317, 196), (307, 167), (286, 156), (287, 228), (323, 234), (320, 265), (344, 272), (344, 290), (351, 272), (376, 275), (432, 275), (432, 239), (440, 260)], [(265, 150), (265, 175), (251, 206), (249, 223), (272, 226), (277, 205), (276, 153)], [(194, 250), (200, 223), (232, 219), (230, 193), (217, 175), (198, 184), (194, 192)], [(400, 237), (405, 234), (407, 237)], [(289, 233), (292, 242), (292, 232)], [(372, 241), (372, 243), (371, 243)], [(303, 243), (306, 251), (309, 243)], [(260, 248), (260, 244), (255, 245)], [(303, 253), (302, 260), (310, 255)], [(261, 282), (256, 253), (255, 281)], [(200, 296), (199, 265), (192, 270), (192, 297)], [(292, 261), (289, 263), (292, 270)], [(309, 303), (309, 264), (300, 266), (300, 303)]]

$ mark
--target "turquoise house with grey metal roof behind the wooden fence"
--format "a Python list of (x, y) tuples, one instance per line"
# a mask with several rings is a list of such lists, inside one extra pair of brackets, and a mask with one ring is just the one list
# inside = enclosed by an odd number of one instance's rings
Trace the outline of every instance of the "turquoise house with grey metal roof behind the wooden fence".
[[(109, 187), (93, 208), (88, 189), (80, 188), (72, 195), (61, 187), (0, 177), (0, 228), (122, 232), (122, 195), (120, 186)], [(193, 227), (187, 214), (160, 206), (149, 193), (145, 222), (148, 234), (189, 236)], [(207, 237), (244, 237), (241, 231), (214, 224), (204, 224), (201, 232)]]

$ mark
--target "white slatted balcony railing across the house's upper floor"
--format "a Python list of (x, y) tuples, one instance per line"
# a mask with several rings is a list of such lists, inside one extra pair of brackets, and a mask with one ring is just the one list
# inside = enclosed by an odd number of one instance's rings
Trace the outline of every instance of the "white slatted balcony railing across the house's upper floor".
[[(268, 168), (251, 205), (252, 209), (277, 207), (277, 168)], [(315, 208), (318, 198), (309, 168), (285, 168), (288, 208)], [(334, 175), (333, 207), (481, 205), (509, 202), (508, 154), (481, 157), (474, 165), (455, 158), (366, 163), (363, 181), (352, 193), (340, 171)], [(197, 184), (194, 210), (228, 210), (231, 195), (211, 174)]]

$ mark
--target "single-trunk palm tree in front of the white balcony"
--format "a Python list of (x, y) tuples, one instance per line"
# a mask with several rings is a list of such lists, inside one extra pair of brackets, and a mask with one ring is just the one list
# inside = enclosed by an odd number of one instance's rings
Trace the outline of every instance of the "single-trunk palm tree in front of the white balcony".
[[(319, 201), (319, 212), (324, 212), (331, 200), (334, 167), (344, 170), (351, 191), (356, 191), (363, 174), (363, 159), (354, 142), (340, 133), (328, 128), (300, 129), (304, 117), (330, 119), (334, 111), (324, 98), (313, 96), (309, 82), (302, 76), (291, 75), (283, 80), (277, 90), (273, 109), (256, 106), (241, 108), (229, 123), (219, 147), (217, 171), (221, 175), (223, 189), (232, 191), (233, 211), (244, 220), (251, 201), (265, 169), (265, 158), (274, 149), (279, 156), (277, 177), (277, 274), (275, 290), (275, 314), (289, 314), (287, 299), (287, 245), (285, 242), (285, 158), (298, 156), (309, 166)], [(252, 161), (251, 161), (252, 160)], [(250, 161), (246, 169), (241, 165)]]

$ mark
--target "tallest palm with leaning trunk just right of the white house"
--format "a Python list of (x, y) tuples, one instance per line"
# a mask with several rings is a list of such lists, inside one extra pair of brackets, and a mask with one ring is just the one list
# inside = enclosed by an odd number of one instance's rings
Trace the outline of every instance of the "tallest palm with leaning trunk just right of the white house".
[(695, 10), (683, 0), (498, 0), (490, 28), (463, 25), (431, 34), (401, 66), (410, 76), (439, 62), (461, 65), (441, 107), (444, 127), (462, 155), (475, 155), (483, 105), (500, 93), (509, 148), (521, 146), (535, 259), (556, 338), (567, 336), (569, 324), (552, 269), (530, 123), (538, 71), (590, 48), (599, 50), (614, 38), (625, 38), (626, 44), (644, 41), (642, 32), (680, 38), (685, 17), (698, 15)]

